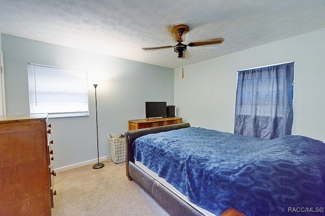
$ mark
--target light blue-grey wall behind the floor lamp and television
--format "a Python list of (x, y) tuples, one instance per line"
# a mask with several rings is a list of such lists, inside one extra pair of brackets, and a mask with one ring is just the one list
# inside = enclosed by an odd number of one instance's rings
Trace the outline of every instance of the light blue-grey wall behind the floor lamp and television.
[[(109, 134), (127, 120), (145, 118), (145, 101), (174, 104), (174, 70), (53, 44), (1, 35), (7, 115), (29, 114), (27, 63), (88, 70), (89, 116), (50, 119), (55, 168), (97, 158), (95, 95), (98, 84), (100, 157), (110, 154)], [(23, 157), (23, 155), (22, 155)]]

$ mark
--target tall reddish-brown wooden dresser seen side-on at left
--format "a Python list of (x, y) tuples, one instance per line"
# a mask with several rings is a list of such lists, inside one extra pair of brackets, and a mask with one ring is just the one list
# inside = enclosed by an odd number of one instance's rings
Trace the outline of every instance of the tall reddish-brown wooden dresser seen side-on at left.
[(47, 115), (0, 116), (0, 215), (51, 215), (49, 127)]

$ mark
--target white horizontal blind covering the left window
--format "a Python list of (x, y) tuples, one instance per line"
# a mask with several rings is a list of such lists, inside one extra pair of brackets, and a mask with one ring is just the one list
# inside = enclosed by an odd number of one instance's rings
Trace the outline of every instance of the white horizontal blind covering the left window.
[(28, 63), (30, 114), (88, 116), (87, 71)]

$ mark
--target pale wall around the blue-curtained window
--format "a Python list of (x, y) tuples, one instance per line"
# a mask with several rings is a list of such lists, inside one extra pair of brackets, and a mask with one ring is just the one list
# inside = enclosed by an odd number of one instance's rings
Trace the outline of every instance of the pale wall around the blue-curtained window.
[(324, 142), (324, 39), (325, 28), (206, 60), (185, 66), (183, 79), (175, 69), (177, 116), (191, 126), (234, 132), (237, 71), (295, 61), (292, 133)]

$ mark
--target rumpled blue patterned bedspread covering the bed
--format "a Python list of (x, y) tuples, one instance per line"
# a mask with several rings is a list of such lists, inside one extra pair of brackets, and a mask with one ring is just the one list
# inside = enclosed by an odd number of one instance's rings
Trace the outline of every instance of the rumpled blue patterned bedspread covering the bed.
[(263, 140), (189, 127), (139, 137), (135, 159), (197, 205), (221, 214), (324, 214), (325, 144), (304, 136)]

